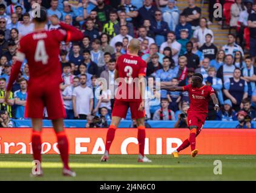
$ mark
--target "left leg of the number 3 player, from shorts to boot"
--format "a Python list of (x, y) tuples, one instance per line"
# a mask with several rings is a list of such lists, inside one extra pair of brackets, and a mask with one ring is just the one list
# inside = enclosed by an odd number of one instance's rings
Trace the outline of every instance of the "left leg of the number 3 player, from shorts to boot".
[(116, 129), (121, 119), (126, 117), (127, 110), (128, 105), (125, 101), (114, 101), (111, 124), (110, 127), (108, 127), (107, 138), (105, 142), (105, 153), (101, 157), (100, 161), (107, 162), (107, 160), (109, 159), (110, 147), (114, 140)]

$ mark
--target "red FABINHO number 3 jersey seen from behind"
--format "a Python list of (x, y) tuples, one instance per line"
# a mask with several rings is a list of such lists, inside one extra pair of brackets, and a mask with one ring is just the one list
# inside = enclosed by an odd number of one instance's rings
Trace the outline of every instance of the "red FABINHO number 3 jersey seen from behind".
[(116, 100), (140, 101), (139, 75), (146, 75), (146, 62), (139, 56), (124, 54), (117, 59), (116, 70), (120, 81)]

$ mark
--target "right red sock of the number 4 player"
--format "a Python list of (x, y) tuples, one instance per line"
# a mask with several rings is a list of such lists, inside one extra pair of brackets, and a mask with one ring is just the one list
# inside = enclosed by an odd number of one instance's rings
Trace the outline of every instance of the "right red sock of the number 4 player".
[(70, 169), (68, 166), (68, 138), (65, 134), (65, 131), (56, 133), (57, 136), (57, 145), (59, 152), (61, 153), (61, 159), (64, 165), (64, 168)]

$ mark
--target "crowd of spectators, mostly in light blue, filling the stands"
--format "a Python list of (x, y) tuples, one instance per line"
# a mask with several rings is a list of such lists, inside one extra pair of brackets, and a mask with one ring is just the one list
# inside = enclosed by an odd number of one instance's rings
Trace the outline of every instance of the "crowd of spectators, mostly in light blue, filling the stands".
[[(181, 10), (174, 0), (0, 0), (0, 127), (11, 127), (10, 118), (24, 119), (29, 79), (26, 62), (7, 104), (4, 95), (19, 39), (33, 31), (31, 7), (38, 3), (47, 8), (49, 16), (84, 33), (82, 42), (60, 45), (64, 80), (60, 87), (67, 119), (87, 119), (87, 127), (106, 127), (117, 87), (116, 60), (136, 37), (141, 42), (139, 55), (147, 63), (147, 119), (176, 120), (175, 127), (186, 127), (188, 92), (159, 90), (157, 82), (185, 86), (199, 72), (222, 106), (215, 113), (210, 103), (207, 120), (238, 120), (238, 128), (252, 128), (251, 121), (256, 120), (256, 2), (233, 2), (230, 26), (237, 27), (239, 21), (240, 31), (229, 33), (220, 48), (214, 45), (211, 30), (213, 8), (208, 21), (195, 0), (185, 2), (188, 7)], [(57, 28), (59, 25), (50, 23), (45, 26), (46, 30)], [(243, 38), (246, 29), (249, 46)], [(131, 119), (129, 113), (126, 119)]]

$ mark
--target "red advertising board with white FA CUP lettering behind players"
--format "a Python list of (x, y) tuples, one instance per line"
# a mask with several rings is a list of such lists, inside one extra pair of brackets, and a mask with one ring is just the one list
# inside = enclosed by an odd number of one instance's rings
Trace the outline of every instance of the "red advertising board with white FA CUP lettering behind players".
[[(105, 128), (65, 128), (70, 154), (103, 154)], [(171, 154), (189, 136), (185, 128), (147, 128), (145, 154)], [(197, 137), (200, 154), (256, 154), (256, 130), (205, 129)], [(111, 154), (137, 154), (139, 145), (136, 128), (120, 128), (110, 149)], [(190, 154), (190, 147), (182, 154)], [(31, 128), (0, 128), (1, 154), (31, 154)], [(53, 128), (42, 131), (42, 153), (57, 154)]]

